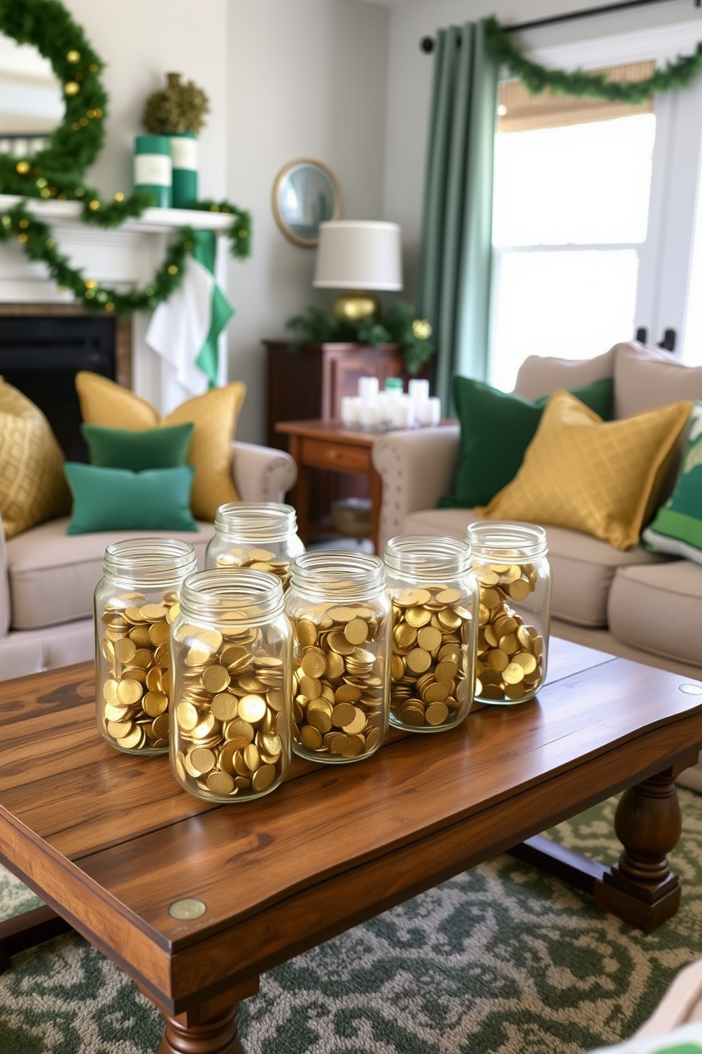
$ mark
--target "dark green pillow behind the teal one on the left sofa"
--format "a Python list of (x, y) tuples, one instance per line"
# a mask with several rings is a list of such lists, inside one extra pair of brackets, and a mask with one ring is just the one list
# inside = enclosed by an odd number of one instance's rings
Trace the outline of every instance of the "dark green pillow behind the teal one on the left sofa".
[(125, 428), (103, 428), (82, 424), (80, 430), (91, 465), (103, 468), (178, 468), (185, 464), (195, 425), (185, 422), (167, 428), (146, 428), (140, 432)]

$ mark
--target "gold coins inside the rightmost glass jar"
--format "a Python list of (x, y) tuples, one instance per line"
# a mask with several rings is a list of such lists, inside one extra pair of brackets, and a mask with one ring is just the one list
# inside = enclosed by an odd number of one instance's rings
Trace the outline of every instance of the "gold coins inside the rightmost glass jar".
[(533, 696), (543, 679), (543, 637), (512, 607), (534, 591), (533, 564), (476, 568), (480, 608), (476, 698), (516, 702)]

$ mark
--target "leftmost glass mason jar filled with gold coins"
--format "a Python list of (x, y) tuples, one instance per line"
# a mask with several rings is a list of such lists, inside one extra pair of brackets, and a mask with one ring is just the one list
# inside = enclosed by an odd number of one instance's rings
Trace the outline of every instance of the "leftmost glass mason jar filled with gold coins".
[(168, 632), (183, 579), (197, 569), (189, 542), (142, 538), (105, 549), (95, 590), (98, 728), (126, 754), (166, 754)]

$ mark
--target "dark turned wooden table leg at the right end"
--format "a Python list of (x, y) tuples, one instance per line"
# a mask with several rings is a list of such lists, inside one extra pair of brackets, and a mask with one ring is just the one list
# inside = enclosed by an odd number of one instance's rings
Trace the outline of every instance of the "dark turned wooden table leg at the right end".
[(680, 882), (667, 854), (681, 832), (673, 770), (665, 769), (625, 790), (615, 815), (624, 851), (595, 883), (595, 903), (650, 933), (678, 911)]

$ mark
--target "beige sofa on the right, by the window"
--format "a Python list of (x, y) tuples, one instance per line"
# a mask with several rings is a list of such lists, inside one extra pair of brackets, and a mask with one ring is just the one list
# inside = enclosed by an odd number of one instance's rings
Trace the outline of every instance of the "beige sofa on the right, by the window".
[[(587, 362), (527, 358), (515, 393), (536, 399), (558, 388), (614, 377), (614, 416), (621, 418), (666, 403), (702, 399), (702, 367), (636, 343), (618, 344)], [(472, 509), (437, 508), (452, 491), (460, 428), (388, 432), (373, 450), (383, 481), (379, 551), (396, 534), (462, 538), (478, 519)], [(677, 465), (670, 470), (673, 484)], [(666, 496), (665, 488), (661, 501)], [(554, 575), (551, 632), (702, 680), (702, 566), (646, 551), (621, 551), (606, 542), (543, 525)], [(689, 779), (687, 778), (689, 776)], [(702, 767), (681, 782), (702, 790)]]

